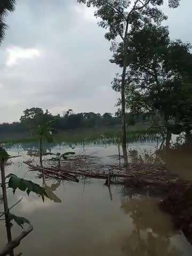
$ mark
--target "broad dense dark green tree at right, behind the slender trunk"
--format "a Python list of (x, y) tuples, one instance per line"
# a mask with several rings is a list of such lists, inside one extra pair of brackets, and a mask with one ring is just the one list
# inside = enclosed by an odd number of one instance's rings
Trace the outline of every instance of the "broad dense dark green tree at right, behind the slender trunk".
[[(158, 111), (167, 126), (169, 143), (169, 118), (174, 118), (175, 123), (191, 122), (190, 44), (179, 40), (171, 42), (167, 27), (149, 24), (130, 38), (127, 55), (130, 69), (126, 73), (126, 107), (132, 113)], [(123, 59), (124, 52), (120, 45), (113, 62), (122, 65)], [(121, 90), (118, 76), (114, 79), (113, 88)]]

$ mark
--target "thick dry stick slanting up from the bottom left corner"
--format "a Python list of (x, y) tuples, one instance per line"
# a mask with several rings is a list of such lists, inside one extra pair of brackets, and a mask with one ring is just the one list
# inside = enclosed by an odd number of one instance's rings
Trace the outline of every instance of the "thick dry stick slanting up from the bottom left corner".
[[(0, 256), (5, 256), (7, 253), (9, 253), (11, 250), (13, 250), (15, 247), (17, 247), (21, 240), (26, 237), (31, 231), (33, 230), (33, 226), (30, 226), (27, 230), (22, 231), (21, 234), (13, 239), (10, 243), (8, 243), (3, 250), (0, 251)], [(21, 254), (19, 254), (21, 255)]]

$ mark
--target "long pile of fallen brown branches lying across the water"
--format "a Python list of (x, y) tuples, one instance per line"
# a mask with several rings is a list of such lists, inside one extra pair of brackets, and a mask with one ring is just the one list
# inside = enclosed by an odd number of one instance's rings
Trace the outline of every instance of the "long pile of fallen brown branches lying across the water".
[[(162, 190), (167, 190), (172, 185), (184, 184), (182, 180), (165, 170), (163, 166), (153, 164), (130, 163), (126, 167), (117, 165), (108, 165), (107, 167), (99, 165), (100, 167), (98, 167), (98, 165), (93, 165), (92, 170), (83, 168), (81, 164), (75, 162), (70, 166), (63, 165), (60, 167), (35, 166), (28, 162), (25, 164), (29, 166), (30, 171), (41, 172), (45, 177), (74, 182), (79, 182), (82, 178), (103, 179), (106, 180), (107, 186), (109, 183), (125, 184), (132, 188), (157, 187), (162, 188)], [(109, 179), (110, 181), (108, 181)]]

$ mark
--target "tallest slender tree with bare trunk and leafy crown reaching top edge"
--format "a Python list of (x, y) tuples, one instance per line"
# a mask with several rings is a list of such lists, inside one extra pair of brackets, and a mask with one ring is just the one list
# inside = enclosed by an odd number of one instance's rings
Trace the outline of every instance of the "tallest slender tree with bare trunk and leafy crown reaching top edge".
[[(166, 16), (158, 9), (164, 0), (78, 0), (87, 7), (96, 7), (95, 17), (101, 19), (99, 26), (108, 29), (106, 39), (113, 41), (121, 39), (124, 59), (121, 76), (121, 105), (122, 105), (122, 148), (124, 163), (127, 164), (126, 150), (126, 115), (125, 115), (125, 80), (127, 69), (127, 47), (129, 38), (140, 30), (147, 22), (160, 23)], [(170, 7), (177, 7), (180, 0), (169, 0)]]

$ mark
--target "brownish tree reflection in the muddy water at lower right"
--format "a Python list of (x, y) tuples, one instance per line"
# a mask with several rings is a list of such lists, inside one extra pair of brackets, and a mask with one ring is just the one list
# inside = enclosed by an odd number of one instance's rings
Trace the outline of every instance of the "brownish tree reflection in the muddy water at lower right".
[(158, 209), (158, 201), (149, 197), (122, 200), (121, 209), (132, 219), (133, 229), (122, 246), (126, 255), (179, 256), (183, 252), (172, 244), (177, 231)]

